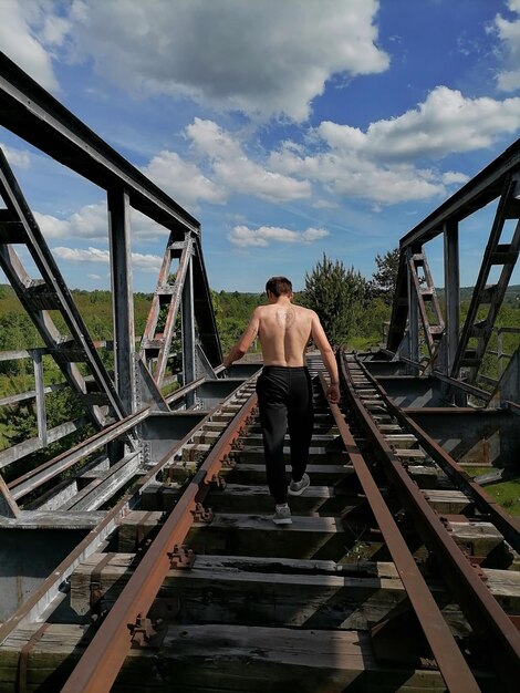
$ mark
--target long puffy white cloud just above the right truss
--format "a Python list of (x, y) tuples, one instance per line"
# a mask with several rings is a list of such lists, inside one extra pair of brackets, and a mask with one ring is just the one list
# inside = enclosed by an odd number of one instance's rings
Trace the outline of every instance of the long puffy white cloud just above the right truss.
[(403, 115), (372, 123), (365, 131), (322, 122), (316, 152), (284, 143), (270, 157), (273, 170), (321, 183), (341, 197), (395, 204), (446, 195), (465, 183), (459, 172), (425, 167), (448, 154), (485, 148), (520, 127), (520, 99), (468, 99), (437, 86)]

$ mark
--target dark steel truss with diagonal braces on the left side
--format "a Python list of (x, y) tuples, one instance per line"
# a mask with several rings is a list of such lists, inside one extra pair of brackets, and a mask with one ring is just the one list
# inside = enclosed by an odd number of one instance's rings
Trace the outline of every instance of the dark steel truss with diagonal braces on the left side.
[[(2, 268), (25, 310), (42, 333), (70, 384), (80, 393), (98, 427), (105, 420), (98, 404), (108, 404), (121, 420), (143, 404), (167, 410), (160, 394), (175, 337), (176, 319), (183, 324), (183, 381), (204, 373), (215, 377), (221, 363), (209, 283), (200, 245), (200, 225), (186, 210), (103, 142), (3, 53), (0, 53), (0, 123), (55, 161), (106, 190), (113, 293), (115, 374), (104, 370), (72, 297), (45, 245), (12, 172), (2, 156), (0, 193), (7, 204), (1, 213)], [(169, 230), (165, 259), (148, 316), (141, 350), (135, 353), (129, 208), (133, 207)], [(17, 258), (13, 242), (28, 246), (43, 279), (32, 281)], [(173, 258), (179, 268), (173, 285), (168, 275)], [(167, 308), (164, 331), (157, 333), (160, 309)], [(60, 335), (46, 309), (58, 309), (71, 337)], [(87, 363), (96, 383), (91, 392), (74, 368)]]

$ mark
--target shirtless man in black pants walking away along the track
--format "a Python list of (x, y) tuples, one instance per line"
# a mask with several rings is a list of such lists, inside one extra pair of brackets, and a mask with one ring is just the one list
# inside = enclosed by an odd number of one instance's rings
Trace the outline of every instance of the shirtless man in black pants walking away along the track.
[[(258, 406), (262, 426), (266, 472), (274, 498), (273, 523), (290, 525), (288, 493), (300, 496), (310, 485), (305, 474), (309, 462), (314, 413), (312, 385), (305, 366), (305, 346), (312, 337), (331, 377), (326, 397), (340, 401), (340, 379), (334, 352), (313, 310), (292, 304), (292, 285), (285, 277), (271, 277), (266, 285), (268, 306), (252, 312), (249, 324), (237, 344), (223, 359), (223, 365), (243, 356), (260, 339), (263, 369), (257, 381)], [(289, 427), (291, 472), (289, 485), (283, 461), (283, 438)]]

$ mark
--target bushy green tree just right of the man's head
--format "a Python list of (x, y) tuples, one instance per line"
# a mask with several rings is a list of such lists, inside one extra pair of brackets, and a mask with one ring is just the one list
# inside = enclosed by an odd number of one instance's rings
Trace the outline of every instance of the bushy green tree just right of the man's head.
[(346, 344), (356, 332), (366, 290), (358, 271), (346, 269), (341, 260), (333, 261), (323, 254), (323, 260), (310, 273), (305, 272), (302, 302), (320, 316), (332, 344)]

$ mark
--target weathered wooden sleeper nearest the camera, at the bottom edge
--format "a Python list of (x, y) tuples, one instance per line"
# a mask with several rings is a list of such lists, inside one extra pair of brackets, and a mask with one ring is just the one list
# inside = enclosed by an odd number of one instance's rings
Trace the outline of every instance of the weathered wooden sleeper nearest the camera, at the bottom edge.
[[(15, 691), (20, 649), (38, 630), (17, 631), (0, 652), (0, 690)], [(31, 652), (28, 691), (55, 693), (81, 654), (83, 629), (51, 625)], [(241, 625), (169, 625), (159, 648), (133, 649), (113, 693), (440, 693), (435, 670), (374, 659), (367, 633)], [(497, 682), (480, 674), (485, 693)]]

